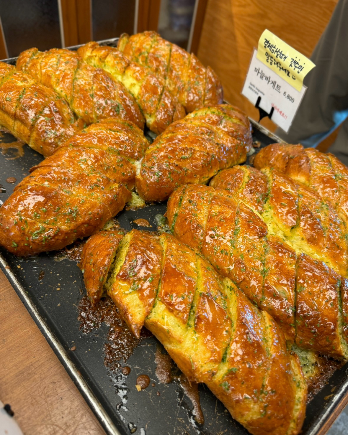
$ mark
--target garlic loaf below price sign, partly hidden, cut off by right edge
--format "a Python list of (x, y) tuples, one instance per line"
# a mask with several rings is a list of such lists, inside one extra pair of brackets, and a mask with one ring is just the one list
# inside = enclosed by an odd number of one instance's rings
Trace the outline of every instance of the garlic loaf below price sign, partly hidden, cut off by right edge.
[(253, 165), (273, 167), (311, 187), (331, 203), (343, 221), (348, 219), (348, 168), (333, 154), (302, 145), (272, 144), (262, 148)]

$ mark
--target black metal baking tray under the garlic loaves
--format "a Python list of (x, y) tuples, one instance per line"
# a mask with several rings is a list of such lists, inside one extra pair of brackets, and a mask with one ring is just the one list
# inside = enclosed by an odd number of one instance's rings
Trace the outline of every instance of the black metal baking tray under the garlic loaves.
[[(117, 38), (101, 42), (114, 46)], [(5, 61), (14, 64), (16, 58)], [(259, 141), (261, 147), (278, 141), (277, 136), (260, 124), (251, 122), (253, 139)], [(10, 134), (0, 139), (0, 149), (3, 150), (0, 154), (1, 201), (10, 196), (15, 184), (29, 173), (30, 167), (43, 159), (41, 154), (27, 145), (23, 148), (24, 155), (14, 158), (15, 150), (5, 151), (6, 147), (3, 147), (3, 143), (12, 141), (14, 137)], [(17, 182), (8, 183), (8, 177), (15, 177)], [(166, 204), (152, 204), (137, 211), (122, 211), (117, 219), (122, 228), (131, 230), (139, 228), (133, 223), (135, 219), (145, 218), (152, 228), (141, 229), (155, 231), (155, 215), (163, 214), (165, 210)], [(76, 261), (64, 256), (59, 260), (56, 252), (17, 258), (0, 248), (1, 269), (107, 434), (247, 434), (204, 385), (199, 385), (199, 396), (205, 423), (196, 423), (193, 405), (180, 384), (161, 384), (155, 375), (155, 353), (159, 343), (153, 336), (140, 341), (128, 361), (124, 361), (123, 365), (131, 368), (128, 376), (107, 368), (103, 348), (107, 342), (108, 327), (102, 324), (89, 334), (80, 330), (78, 304), (82, 294), (85, 294), (82, 273)], [(135, 384), (140, 374), (148, 375), (151, 383), (138, 392)], [(347, 397), (348, 363), (334, 372), (307, 405), (302, 434), (323, 434), (324, 428), (328, 428), (333, 417), (345, 405)]]

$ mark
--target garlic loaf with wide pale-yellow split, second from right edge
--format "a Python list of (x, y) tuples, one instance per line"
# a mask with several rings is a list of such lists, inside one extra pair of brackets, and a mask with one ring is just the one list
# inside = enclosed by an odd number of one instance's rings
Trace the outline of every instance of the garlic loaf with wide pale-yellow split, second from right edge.
[(270, 234), (297, 253), (324, 261), (347, 276), (347, 227), (331, 203), (313, 189), (276, 170), (247, 165), (221, 171), (210, 185), (228, 190), (260, 213)]

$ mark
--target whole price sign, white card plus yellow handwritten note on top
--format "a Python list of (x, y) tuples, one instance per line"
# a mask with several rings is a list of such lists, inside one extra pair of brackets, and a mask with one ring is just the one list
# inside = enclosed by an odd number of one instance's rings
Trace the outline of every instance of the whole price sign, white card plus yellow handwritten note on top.
[(315, 65), (269, 30), (254, 49), (242, 94), (270, 114), (271, 120), (288, 131), (307, 87), (306, 74)]

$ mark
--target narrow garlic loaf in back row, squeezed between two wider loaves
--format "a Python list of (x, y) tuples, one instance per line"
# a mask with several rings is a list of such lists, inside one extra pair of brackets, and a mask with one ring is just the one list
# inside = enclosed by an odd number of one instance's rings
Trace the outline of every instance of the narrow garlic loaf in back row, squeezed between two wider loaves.
[(129, 61), (117, 48), (89, 42), (78, 49), (84, 62), (102, 68), (133, 95), (144, 114), (146, 125), (156, 134), (183, 118), (185, 109), (148, 68)]

